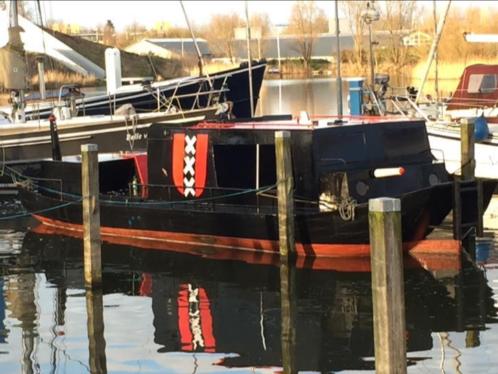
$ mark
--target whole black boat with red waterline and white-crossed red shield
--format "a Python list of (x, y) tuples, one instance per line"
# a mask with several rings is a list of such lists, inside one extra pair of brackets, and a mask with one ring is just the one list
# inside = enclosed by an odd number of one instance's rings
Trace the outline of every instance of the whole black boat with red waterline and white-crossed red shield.
[[(277, 253), (280, 130), (291, 136), (300, 255), (368, 255), (371, 198), (401, 199), (405, 243), (424, 239), (452, 208), (453, 183), (444, 164), (435, 161), (420, 120), (283, 117), (203, 121), (187, 128), (154, 124), (147, 153), (101, 155), (102, 237), (186, 252)], [(81, 232), (79, 158), (27, 163), (16, 172), (28, 212), (44, 225)]]

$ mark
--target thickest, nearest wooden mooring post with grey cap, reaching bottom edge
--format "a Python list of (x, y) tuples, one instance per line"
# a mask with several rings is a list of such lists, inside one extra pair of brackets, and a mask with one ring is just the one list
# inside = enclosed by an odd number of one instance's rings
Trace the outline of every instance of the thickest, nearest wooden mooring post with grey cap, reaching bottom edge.
[(406, 373), (401, 202), (368, 202), (376, 373)]

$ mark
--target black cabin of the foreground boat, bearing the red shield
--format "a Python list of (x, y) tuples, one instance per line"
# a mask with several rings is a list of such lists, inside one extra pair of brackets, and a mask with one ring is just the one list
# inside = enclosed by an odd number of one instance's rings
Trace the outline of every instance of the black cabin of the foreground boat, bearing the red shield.
[(219, 200), (223, 190), (231, 201), (252, 203), (255, 190), (261, 190), (258, 203), (268, 197), (266, 202), (274, 202), (266, 190), (275, 191), (275, 132), (282, 130), (291, 135), (297, 202), (366, 202), (448, 180), (444, 167), (434, 164), (420, 120), (155, 124), (148, 135), (148, 197)]

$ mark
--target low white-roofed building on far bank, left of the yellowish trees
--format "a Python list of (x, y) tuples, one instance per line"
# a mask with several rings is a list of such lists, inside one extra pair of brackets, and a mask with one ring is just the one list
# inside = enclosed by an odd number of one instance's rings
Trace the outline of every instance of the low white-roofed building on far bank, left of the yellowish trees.
[[(206, 40), (196, 39), (203, 57), (211, 57)], [(125, 48), (125, 51), (139, 55), (153, 54), (162, 58), (184, 58), (197, 56), (195, 44), (190, 38), (143, 39)]]

